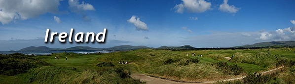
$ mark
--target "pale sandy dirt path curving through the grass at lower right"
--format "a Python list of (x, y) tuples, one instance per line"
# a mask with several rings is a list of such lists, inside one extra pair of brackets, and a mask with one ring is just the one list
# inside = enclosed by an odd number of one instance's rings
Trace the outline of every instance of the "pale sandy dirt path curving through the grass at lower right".
[[(277, 69), (281, 69), (283, 68), (284, 66), (282, 67), (278, 67), (278, 68), (275, 68), (275, 69), (272, 69), (272, 70), (268, 70), (268, 71), (265, 71), (265, 72), (261, 72), (259, 74), (269, 74), (269, 72), (271, 71), (275, 71)], [(150, 77), (150, 76), (147, 76), (145, 74), (138, 74), (138, 75), (131, 75), (132, 78), (134, 79), (140, 79), (141, 81), (144, 81), (144, 82), (147, 82), (147, 84), (212, 84), (212, 83), (215, 83), (215, 82), (218, 82), (218, 81), (207, 81), (207, 82), (183, 82), (183, 81), (176, 81), (176, 80), (170, 80), (170, 79), (165, 79), (165, 78), (159, 78), (159, 77)], [(246, 76), (244, 76), (246, 77)], [(233, 80), (240, 80), (240, 79), (243, 79), (244, 77), (239, 77), (239, 78), (234, 78), (234, 79), (225, 79), (225, 80), (222, 80), (222, 81), (233, 81)]]

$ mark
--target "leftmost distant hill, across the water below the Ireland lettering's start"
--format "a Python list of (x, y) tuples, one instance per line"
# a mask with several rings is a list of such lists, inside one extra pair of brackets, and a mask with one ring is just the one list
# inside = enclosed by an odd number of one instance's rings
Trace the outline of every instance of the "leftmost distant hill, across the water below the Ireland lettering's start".
[(49, 48), (46, 46), (29, 46), (26, 48), (22, 48), (19, 51), (48, 51), (48, 50), (60, 50), (60, 48)]

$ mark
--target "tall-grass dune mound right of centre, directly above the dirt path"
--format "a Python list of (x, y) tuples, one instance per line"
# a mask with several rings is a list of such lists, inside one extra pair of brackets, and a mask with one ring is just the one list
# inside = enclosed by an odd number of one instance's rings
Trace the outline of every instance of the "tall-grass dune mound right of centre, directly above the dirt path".
[(146, 61), (139, 62), (139, 67), (148, 74), (184, 81), (215, 80), (228, 77), (211, 63), (192, 62), (189, 60), (195, 58), (174, 54), (167, 50), (147, 54), (154, 56), (150, 56)]

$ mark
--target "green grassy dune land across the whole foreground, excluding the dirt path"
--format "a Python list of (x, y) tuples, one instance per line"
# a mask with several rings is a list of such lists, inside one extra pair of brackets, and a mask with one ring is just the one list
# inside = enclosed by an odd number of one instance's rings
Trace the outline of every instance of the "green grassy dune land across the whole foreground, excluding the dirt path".
[[(280, 80), (282, 83), (292, 83), (290, 80), (295, 76), (295, 68), (291, 63), (295, 58), (293, 50), (295, 48), (177, 51), (138, 49), (104, 54), (64, 52), (50, 56), (0, 55), (0, 83), (142, 84), (129, 74), (149, 74), (180, 81), (213, 81), (241, 77), (283, 65), (288, 65), (284, 69), (286, 71), (274, 76), (276, 79), (286, 78)], [(270, 54), (267, 54), (268, 51)], [(191, 53), (202, 54), (203, 57), (191, 56)], [(232, 54), (235, 56), (231, 60), (224, 58), (231, 57)], [(60, 59), (55, 60), (54, 57)], [(119, 64), (120, 60), (130, 64)]]

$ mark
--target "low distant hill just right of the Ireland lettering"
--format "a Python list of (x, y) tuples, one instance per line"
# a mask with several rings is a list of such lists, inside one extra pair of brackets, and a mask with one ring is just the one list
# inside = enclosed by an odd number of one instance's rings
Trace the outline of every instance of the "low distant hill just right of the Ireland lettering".
[(103, 50), (132, 50), (132, 49), (144, 49), (144, 48), (150, 48), (147, 46), (131, 46), (131, 45), (119, 45), (114, 46), (110, 48), (101, 48)]

